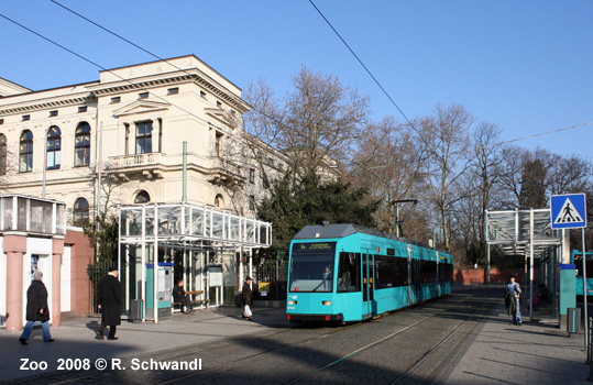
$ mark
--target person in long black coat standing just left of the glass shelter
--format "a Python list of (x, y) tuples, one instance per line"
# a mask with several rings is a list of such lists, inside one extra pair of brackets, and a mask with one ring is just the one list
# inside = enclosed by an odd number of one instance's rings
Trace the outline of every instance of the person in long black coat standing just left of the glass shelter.
[(101, 310), (101, 326), (97, 331), (97, 339), (103, 339), (106, 327), (109, 327), (108, 340), (117, 340), (116, 330), (121, 324), (121, 284), (118, 280), (118, 268), (109, 267), (109, 273), (99, 280), (99, 309)]

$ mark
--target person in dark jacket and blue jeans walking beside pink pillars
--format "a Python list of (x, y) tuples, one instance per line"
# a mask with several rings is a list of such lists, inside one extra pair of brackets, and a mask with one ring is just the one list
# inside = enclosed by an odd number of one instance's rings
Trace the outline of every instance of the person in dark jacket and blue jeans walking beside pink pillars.
[(26, 324), (24, 326), (23, 333), (19, 338), (19, 342), (26, 345), (29, 336), (33, 330), (33, 326), (36, 321), (41, 321), (43, 328), (43, 341), (54, 342), (54, 339), (50, 334), (50, 308), (47, 307), (47, 289), (42, 282), (43, 273), (41, 270), (36, 270), (33, 273), (33, 280), (31, 286), (26, 290)]

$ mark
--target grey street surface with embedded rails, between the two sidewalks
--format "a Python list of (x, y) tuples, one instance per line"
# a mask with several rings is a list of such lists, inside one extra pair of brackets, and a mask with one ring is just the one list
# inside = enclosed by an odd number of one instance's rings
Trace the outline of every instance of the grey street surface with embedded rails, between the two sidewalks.
[[(460, 292), (344, 326), (283, 323), (271, 320), (271, 314), (264, 317), (270, 310), (255, 309), (263, 323), (270, 321), (257, 333), (108, 359), (105, 371), (98, 371), (90, 360), (88, 370), (47, 371), (4, 383), (430, 384), (449, 376), (475, 339), (476, 328), (483, 327), (480, 320), (501, 298), (499, 290)], [(273, 311), (275, 318), (283, 317), (283, 311)], [(219, 320), (213, 321), (223, 323), (229, 315), (240, 318), (240, 309), (221, 308)], [(195, 326), (199, 328), (199, 322)], [(190, 363), (194, 366), (182, 367)]]

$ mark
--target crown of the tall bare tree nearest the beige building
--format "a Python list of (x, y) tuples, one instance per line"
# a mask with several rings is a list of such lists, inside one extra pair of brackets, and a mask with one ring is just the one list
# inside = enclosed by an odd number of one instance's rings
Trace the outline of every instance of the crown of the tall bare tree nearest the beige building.
[(293, 85), (282, 99), (263, 80), (252, 85), (245, 92), (254, 106), (245, 118), (246, 131), (285, 153), (295, 175), (316, 174), (328, 158), (349, 158), (367, 123), (369, 98), (306, 66)]

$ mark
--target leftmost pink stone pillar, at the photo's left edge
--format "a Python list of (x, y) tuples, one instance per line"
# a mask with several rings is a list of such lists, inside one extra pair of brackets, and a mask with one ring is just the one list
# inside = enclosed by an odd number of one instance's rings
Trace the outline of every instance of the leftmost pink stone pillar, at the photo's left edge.
[(23, 330), (23, 255), (26, 237), (4, 235), (7, 254), (7, 330)]

